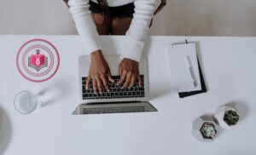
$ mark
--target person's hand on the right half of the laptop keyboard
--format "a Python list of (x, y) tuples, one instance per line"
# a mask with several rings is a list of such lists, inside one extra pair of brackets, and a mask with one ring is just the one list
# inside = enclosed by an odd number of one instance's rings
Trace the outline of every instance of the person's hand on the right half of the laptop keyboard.
[(139, 74), (139, 63), (136, 60), (124, 58), (119, 64), (119, 82), (117, 85), (124, 84), (122, 89), (131, 87), (138, 80), (139, 87), (142, 87), (142, 80)]

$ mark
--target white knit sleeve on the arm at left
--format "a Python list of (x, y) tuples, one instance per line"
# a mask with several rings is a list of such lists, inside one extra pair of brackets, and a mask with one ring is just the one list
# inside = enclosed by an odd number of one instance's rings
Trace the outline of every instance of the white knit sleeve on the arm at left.
[(101, 39), (91, 18), (89, 0), (69, 0), (70, 12), (87, 53), (102, 49)]

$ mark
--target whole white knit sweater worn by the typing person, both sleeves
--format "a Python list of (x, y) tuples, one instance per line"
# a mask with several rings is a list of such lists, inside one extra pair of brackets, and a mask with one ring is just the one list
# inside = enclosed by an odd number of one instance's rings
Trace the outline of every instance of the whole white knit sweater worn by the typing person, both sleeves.
[[(156, 0), (107, 0), (109, 6), (121, 6), (134, 2), (135, 14), (131, 26), (125, 34), (125, 47), (122, 58), (131, 60), (141, 59), (145, 39), (148, 35), (149, 24), (154, 13)], [(96, 2), (96, 0), (93, 0)], [(89, 53), (102, 49), (99, 34), (91, 18), (89, 0), (69, 0), (70, 11), (73, 20), (84, 44), (85, 50)], [(104, 51), (104, 49), (102, 49)]]

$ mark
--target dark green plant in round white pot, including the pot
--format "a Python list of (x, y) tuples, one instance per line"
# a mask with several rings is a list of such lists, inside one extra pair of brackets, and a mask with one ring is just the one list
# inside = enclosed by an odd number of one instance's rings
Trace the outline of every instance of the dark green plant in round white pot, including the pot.
[(214, 113), (214, 119), (224, 129), (230, 129), (239, 121), (239, 113), (232, 106), (219, 106)]

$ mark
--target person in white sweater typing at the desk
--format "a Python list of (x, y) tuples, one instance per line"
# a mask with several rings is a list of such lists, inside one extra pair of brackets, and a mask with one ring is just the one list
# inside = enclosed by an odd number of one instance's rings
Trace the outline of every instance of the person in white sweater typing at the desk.
[(103, 56), (104, 49), (99, 35), (125, 35), (125, 47), (119, 63), (120, 79), (117, 84), (122, 89), (131, 89), (137, 81), (139, 87), (142, 87), (139, 62), (155, 4), (156, 0), (68, 1), (79, 36), (85, 45), (84, 49), (90, 53), (86, 89), (92, 80), (94, 93), (102, 94), (103, 86), (109, 92), (108, 82), (114, 83)]

